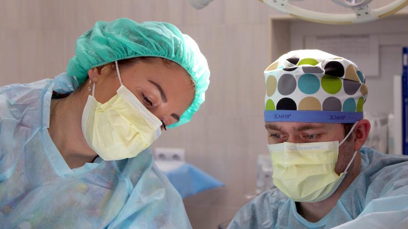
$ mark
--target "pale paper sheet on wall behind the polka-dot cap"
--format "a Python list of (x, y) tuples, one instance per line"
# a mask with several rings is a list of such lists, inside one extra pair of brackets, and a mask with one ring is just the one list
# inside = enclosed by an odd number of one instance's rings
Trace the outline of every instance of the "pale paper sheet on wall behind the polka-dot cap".
[(304, 38), (304, 47), (353, 61), (366, 77), (379, 75), (379, 44), (375, 35), (309, 36)]

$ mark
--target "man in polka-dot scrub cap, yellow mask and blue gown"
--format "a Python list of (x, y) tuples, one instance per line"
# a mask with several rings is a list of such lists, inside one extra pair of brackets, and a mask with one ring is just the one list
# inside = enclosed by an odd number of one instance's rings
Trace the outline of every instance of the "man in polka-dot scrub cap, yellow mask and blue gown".
[(247, 203), (228, 228), (408, 228), (408, 157), (363, 146), (368, 89), (358, 66), (296, 50), (264, 73), (277, 188)]

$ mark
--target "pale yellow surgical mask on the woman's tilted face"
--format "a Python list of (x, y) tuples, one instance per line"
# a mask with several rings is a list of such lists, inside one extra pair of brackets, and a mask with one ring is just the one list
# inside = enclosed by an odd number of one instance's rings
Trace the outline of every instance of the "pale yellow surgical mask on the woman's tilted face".
[(82, 132), (88, 145), (102, 159), (121, 160), (137, 156), (161, 134), (162, 122), (129, 89), (124, 87), (117, 62), (120, 87), (108, 102), (92, 96), (82, 114)]

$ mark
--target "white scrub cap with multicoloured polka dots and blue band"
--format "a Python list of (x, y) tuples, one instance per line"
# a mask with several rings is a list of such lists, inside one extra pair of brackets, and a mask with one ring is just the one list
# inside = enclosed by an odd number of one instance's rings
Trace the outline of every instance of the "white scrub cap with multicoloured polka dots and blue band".
[(266, 68), (265, 122), (355, 123), (368, 89), (353, 62), (320, 50), (295, 50)]

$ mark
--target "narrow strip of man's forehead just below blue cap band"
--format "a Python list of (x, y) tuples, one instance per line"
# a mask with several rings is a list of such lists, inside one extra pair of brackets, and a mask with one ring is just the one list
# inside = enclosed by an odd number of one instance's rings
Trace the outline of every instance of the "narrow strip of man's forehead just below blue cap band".
[(265, 128), (272, 130), (306, 130), (330, 129), (339, 124), (334, 123), (303, 123), (303, 122), (266, 122)]

